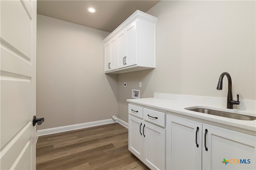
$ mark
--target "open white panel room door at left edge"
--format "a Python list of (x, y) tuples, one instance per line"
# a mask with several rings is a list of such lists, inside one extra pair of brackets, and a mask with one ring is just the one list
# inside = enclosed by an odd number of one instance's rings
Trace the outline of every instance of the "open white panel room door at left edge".
[(36, 0), (0, 8), (0, 169), (36, 169)]

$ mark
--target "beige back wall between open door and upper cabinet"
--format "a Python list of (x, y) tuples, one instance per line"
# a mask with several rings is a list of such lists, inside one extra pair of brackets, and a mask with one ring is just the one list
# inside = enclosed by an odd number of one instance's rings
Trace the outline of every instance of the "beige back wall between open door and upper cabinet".
[(117, 76), (104, 74), (105, 31), (37, 16), (38, 129), (117, 115)]

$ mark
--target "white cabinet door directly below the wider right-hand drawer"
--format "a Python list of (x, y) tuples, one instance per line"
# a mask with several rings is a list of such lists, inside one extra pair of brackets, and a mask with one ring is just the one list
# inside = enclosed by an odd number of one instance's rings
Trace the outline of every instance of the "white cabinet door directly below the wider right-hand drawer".
[[(143, 121), (143, 162), (150, 169), (165, 168), (165, 129)], [(143, 124), (143, 123), (142, 123)]]

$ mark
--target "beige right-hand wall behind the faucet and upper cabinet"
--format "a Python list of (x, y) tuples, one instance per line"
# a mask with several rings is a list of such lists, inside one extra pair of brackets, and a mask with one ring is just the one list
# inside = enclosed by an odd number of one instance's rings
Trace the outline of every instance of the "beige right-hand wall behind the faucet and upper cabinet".
[[(256, 100), (255, 1), (160, 1), (148, 12), (156, 23), (156, 68), (118, 75), (118, 118), (128, 122), (131, 90)], [(142, 88), (139, 88), (139, 82)], [(123, 83), (127, 82), (127, 87)]]

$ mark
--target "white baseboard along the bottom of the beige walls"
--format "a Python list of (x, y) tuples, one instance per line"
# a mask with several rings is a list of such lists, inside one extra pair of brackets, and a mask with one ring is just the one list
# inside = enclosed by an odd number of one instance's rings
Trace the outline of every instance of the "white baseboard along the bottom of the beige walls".
[(54, 128), (49, 128), (49, 129), (42, 129), (42, 130), (38, 130), (36, 133), (37, 133), (37, 138), (38, 138), (38, 136), (50, 135), (50, 134), (54, 134), (54, 133), (72, 131), (72, 130), (76, 130), (76, 129), (83, 129), (83, 128), (86, 128), (86, 127), (105, 125), (105, 124), (115, 123), (115, 122), (118, 122), (121, 125), (123, 125), (124, 127), (128, 128), (128, 123), (126, 123), (125, 121), (123, 121), (121, 119), (117, 119), (117, 121), (114, 121), (113, 119), (105, 119), (105, 120), (92, 121), (92, 122), (80, 123), (80, 124), (75, 124), (75, 125), (54, 127)]

